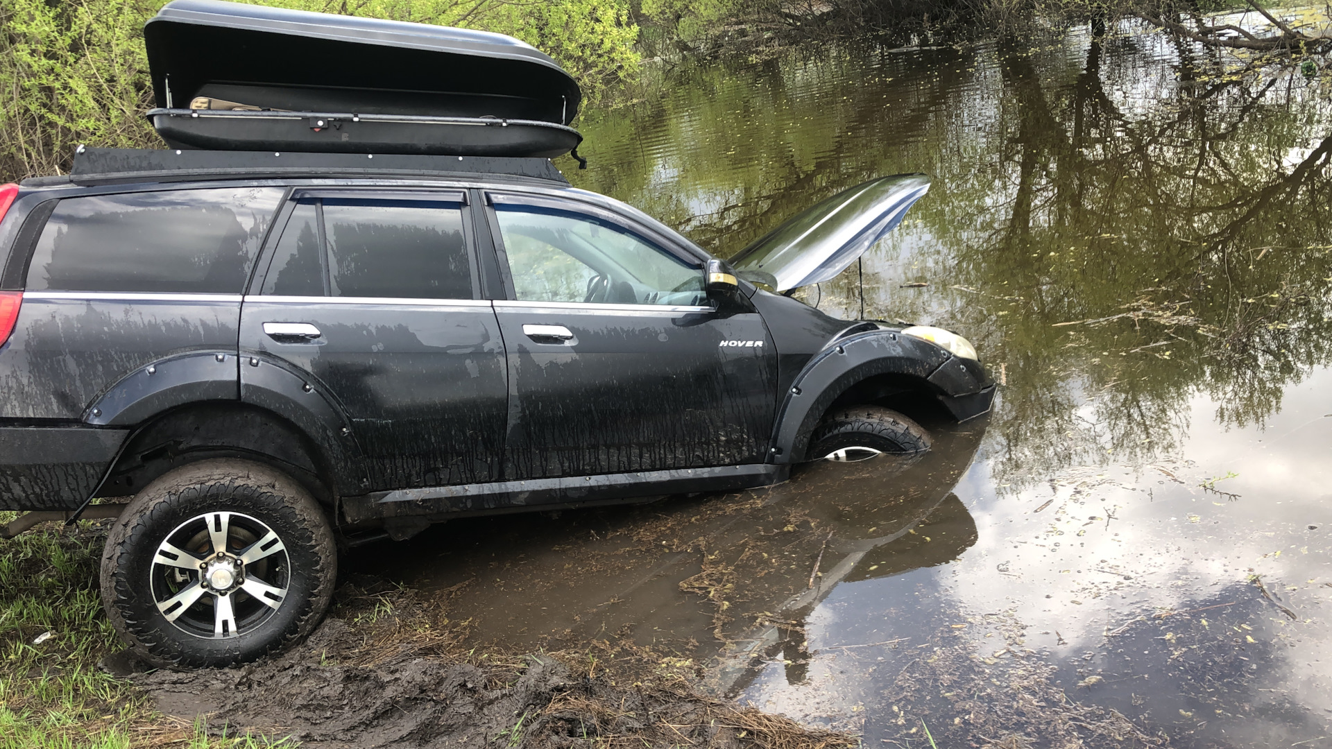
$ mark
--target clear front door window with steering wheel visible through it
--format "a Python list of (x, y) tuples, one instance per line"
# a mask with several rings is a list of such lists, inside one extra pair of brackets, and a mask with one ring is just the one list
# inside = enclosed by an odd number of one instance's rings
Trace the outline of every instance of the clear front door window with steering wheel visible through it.
[(703, 273), (609, 221), (496, 205), (519, 301), (702, 305)]

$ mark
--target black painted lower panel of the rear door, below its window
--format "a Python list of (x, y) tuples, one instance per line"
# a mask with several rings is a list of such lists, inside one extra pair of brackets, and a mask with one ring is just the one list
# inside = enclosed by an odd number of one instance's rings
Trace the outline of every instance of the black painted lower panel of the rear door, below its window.
[[(262, 331), (273, 321), (322, 336), (278, 343)], [(489, 301), (250, 296), (241, 341), (261, 367), (276, 357), (336, 398), (365, 461), (361, 492), (500, 480), (509, 402)], [(242, 385), (254, 369), (241, 367)]]

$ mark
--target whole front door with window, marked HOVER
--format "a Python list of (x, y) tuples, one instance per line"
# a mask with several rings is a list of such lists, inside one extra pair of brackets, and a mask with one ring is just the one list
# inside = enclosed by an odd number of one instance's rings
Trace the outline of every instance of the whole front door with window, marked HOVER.
[(601, 207), (488, 195), (507, 300), (507, 478), (762, 462), (775, 355), (703, 260)]

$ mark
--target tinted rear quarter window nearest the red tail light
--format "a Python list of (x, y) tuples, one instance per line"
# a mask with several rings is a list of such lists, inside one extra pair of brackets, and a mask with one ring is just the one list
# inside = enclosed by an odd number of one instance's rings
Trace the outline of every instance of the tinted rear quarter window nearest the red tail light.
[(28, 291), (241, 293), (282, 188), (61, 200), (28, 265)]

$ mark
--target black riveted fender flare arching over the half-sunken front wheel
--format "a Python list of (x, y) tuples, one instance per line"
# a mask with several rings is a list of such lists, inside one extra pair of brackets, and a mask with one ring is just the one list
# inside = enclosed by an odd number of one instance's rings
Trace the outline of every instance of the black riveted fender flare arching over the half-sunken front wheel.
[(786, 390), (767, 462), (803, 460), (818, 420), (851, 385), (876, 374), (907, 374), (938, 390), (930, 376), (951, 359), (942, 348), (895, 331), (856, 333), (834, 341), (810, 359)]

